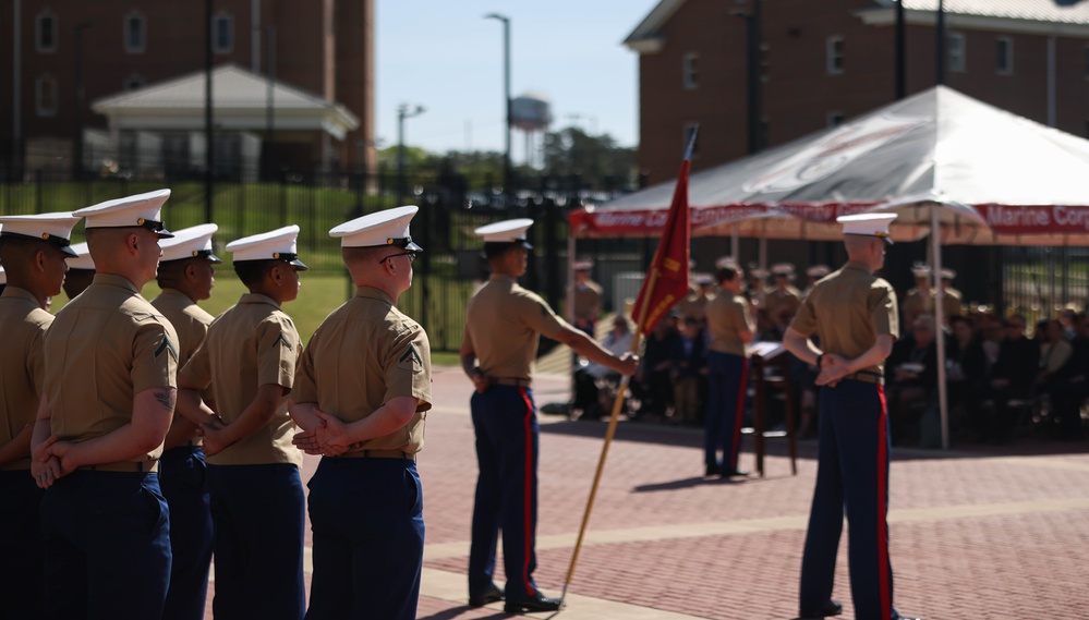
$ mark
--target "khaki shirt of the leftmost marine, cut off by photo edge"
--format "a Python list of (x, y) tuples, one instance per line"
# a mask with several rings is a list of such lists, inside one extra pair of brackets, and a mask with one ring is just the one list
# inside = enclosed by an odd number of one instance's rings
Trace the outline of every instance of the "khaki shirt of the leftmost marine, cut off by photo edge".
[[(0, 446), (34, 423), (45, 379), (43, 342), (53, 315), (38, 306), (24, 289), (8, 287), (0, 295)], [(28, 470), (31, 459), (0, 465), (2, 471)]]

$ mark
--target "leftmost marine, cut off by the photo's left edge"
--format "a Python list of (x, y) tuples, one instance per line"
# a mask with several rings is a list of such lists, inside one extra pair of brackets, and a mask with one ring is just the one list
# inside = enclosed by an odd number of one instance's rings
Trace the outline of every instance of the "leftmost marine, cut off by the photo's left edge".
[(7, 227), (0, 231), (7, 266), (0, 270), (0, 599), (12, 618), (44, 616), (44, 491), (31, 476), (31, 434), (43, 396), (45, 335), (53, 321), (46, 308), (61, 291), (76, 221), (66, 212), (0, 217)]

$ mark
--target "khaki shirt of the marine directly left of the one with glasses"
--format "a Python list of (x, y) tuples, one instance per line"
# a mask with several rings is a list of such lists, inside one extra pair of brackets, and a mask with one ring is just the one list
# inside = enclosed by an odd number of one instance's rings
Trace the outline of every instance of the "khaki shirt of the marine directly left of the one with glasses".
[[(231, 424), (253, 403), (261, 386), (291, 390), (301, 353), (291, 317), (265, 295), (249, 293), (213, 321), (204, 345), (181, 369), (179, 380), (202, 390), (210, 385), (217, 413)], [(302, 451), (291, 445), (294, 431), (285, 398), (268, 424), (206, 461), (213, 465), (301, 465)]]

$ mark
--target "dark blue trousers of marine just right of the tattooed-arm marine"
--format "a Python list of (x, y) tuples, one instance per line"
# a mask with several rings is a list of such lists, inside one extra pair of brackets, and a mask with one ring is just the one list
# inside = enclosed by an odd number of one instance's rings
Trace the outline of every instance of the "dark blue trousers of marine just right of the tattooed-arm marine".
[(211, 502), (198, 446), (179, 446), (159, 459), (159, 486), (170, 507), (170, 586), (162, 620), (204, 620), (215, 543)]

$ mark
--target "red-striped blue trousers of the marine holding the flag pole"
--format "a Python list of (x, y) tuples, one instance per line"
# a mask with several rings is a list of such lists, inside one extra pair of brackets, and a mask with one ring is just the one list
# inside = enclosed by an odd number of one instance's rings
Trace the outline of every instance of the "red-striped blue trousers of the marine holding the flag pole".
[(537, 417), (530, 388), (492, 386), (473, 392), (476, 430), (476, 503), (469, 551), (469, 596), (493, 583), (499, 532), (507, 598), (536, 592)]

